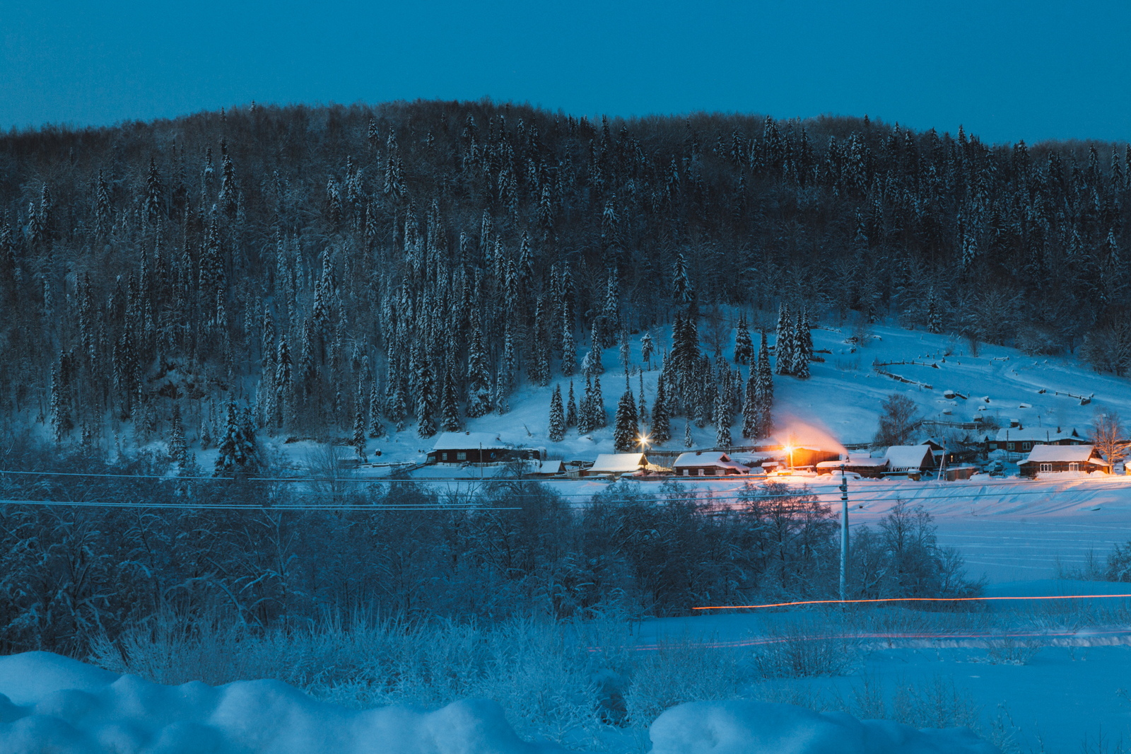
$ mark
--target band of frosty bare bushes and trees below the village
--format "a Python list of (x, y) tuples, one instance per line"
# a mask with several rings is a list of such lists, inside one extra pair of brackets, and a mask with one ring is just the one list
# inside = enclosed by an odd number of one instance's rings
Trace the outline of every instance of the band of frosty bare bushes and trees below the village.
[[(133, 507), (0, 505), (0, 652), (81, 656), (103, 634), (144, 631), (158, 614), (189, 626), (225, 615), (253, 629), (355, 610), (409, 620), (665, 616), (828, 598), (838, 583), (834, 513), (806, 489), (779, 483), (748, 485), (728, 507), (677, 485), (655, 494), (615, 485), (575, 507), (517, 480), (443, 497), (330, 478), (295, 491), (170, 478), (164, 454), (120, 460), (109, 472), (131, 475), (122, 479), (98, 475), (107, 468), (94, 454), (14, 453), (25, 469), (79, 475), (3, 474), (8, 500)], [(271, 505), (249, 505), (264, 499)], [(185, 503), (213, 507), (167, 507)], [(311, 503), (345, 509), (278, 509)], [(382, 507), (407, 505), (449, 509)], [(922, 511), (897, 507), (878, 530), (853, 535), (854, 596), (977, 589), (960, 558), (935, 543)]]

